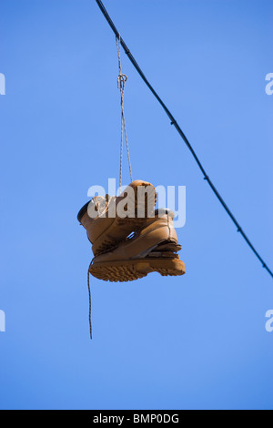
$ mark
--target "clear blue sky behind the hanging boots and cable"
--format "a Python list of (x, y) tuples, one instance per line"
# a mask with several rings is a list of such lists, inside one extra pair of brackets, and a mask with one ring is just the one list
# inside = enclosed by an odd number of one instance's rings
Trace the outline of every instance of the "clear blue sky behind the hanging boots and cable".
[[(272, 269), (272, 2), (105, 5)], [(133, 176), (187, 187), (187, 274), (91, 279), (89, 340), (76, 214), (118, 179), (115, 37), (95, 0), (1, 0), (0, 39), (0, 408), (272, 409), (272, 280), (124, 54)]]

